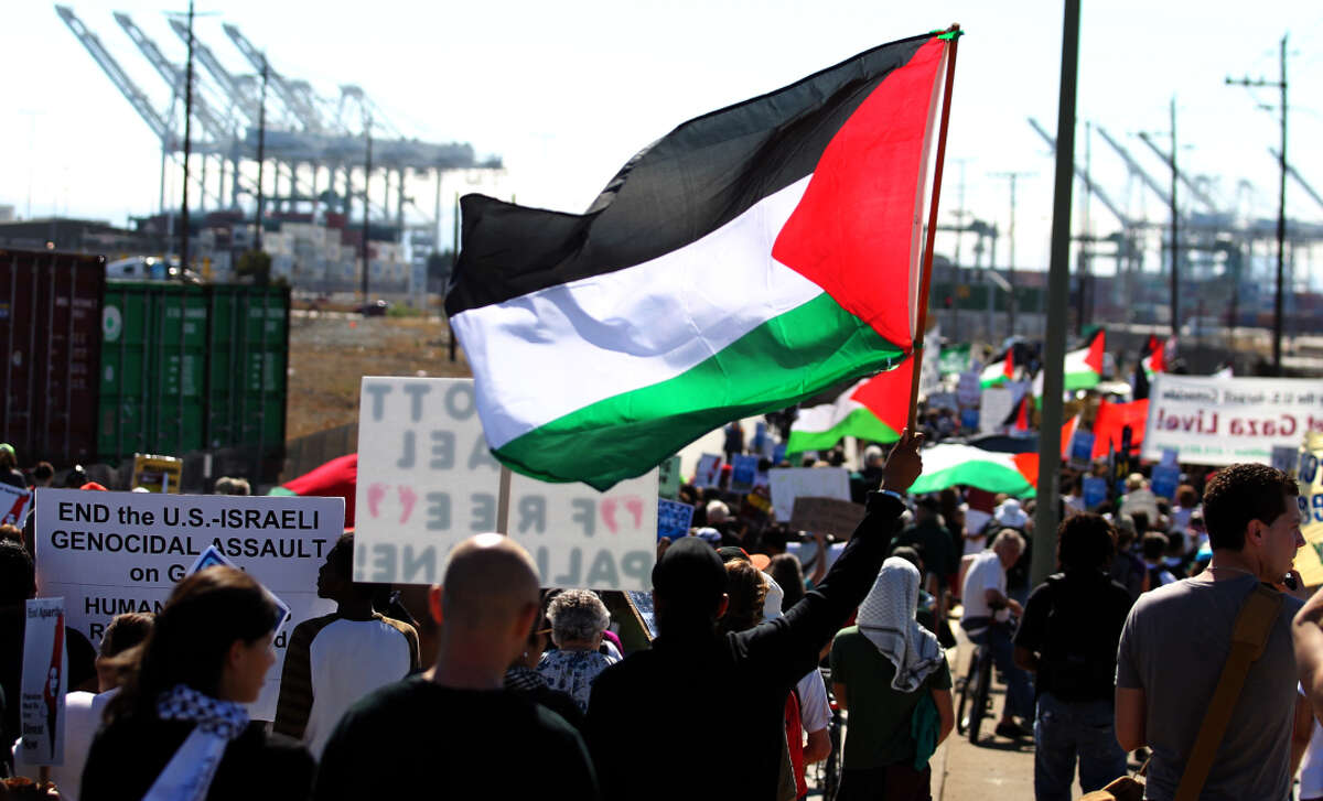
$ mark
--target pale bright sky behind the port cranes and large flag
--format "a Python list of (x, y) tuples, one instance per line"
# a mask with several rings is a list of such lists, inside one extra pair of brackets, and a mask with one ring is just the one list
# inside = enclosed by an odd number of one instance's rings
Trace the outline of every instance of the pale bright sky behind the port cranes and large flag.
[[(165, 106), (168, 93), (111, 17), (130, 13), (171, 58), (184, 45), (159, 0), (70, 3), (124, 69)], [(177, 3), (183, 8), (183, 3)], [(1011, 9), (1011, 11), (1008, 11)], [(221, 30), (235, 24), (273, 66), (335, 96), (363, 86), (406, 135), (471, 141), (508, 169), (495, 184), (454, 177), (446, 194), (487, 190), (521, 204), (582, 210), (635, 151), (676, 123), (789, 83), (873, 45), (953, 21), (960, 42), (943, 210), (966, 208), (1007, 223), (1004, 171), (1021, 180), (1017, 262), (1046, 263), (1052, 159), (1025, 118), (1056, 128), (1061, 4), (855, 0), (590, 0), (582, 3), (201, 1), (197, 34), (235, 71), (251, 71)], [(123, 223), (156, 205), (159, 145), (86, 50), (41, 0), (0, 12), (0, 204), (20, 215), (53, 211)], [(1105, 126), (1163, 182), (1167, 173), (1132, 136), (1164, 131), (1177, 96), (1180, 159), (1217, 178), (1230, 204), (1249, 181), (1252, 213), (1275, 215), (1275, 93), (1224, 86), (1228, 74), (1277, 77), (1277, 44), (1290, 33), (1293, 161), (1323, 189), (1323, 8), (1257, 3), (1085, 3), (1080, 118)], [(1082, 131), (1081, 131), (1082, 134)], [(1078, 139), (1084, 157), (1082, 135)], [(1098, 182), (1138, 213), (1166, 211), (1144, 196), (1099, 137)], [(1290, 188), (1290, 210), (1323, 221)], [(176, 189), (177, 196), (177, 189)], [(430, 196), (425, 190), (425, 196)], [(1077, 190), (1078, 198), (1078, 190)], [(1127, 200), (1129, 198), (1129, 200)], [(430, 206), (430, 201), (423, 201)], [(1077, 202), (1078, 208), (1078, 202)], [(1097, 204), (1097, 229), (1115, 223)], [(949, 217), (947, 217), (949, 219)], [(1005, 252), (998, 254), (998, 262)]]

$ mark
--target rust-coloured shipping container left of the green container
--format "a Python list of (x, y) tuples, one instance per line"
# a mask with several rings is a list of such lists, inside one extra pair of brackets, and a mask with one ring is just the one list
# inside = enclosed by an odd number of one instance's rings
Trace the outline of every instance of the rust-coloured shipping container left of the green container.
[(0, 250), (0, 441), (19, 464), (97, 453), (106, 259)]

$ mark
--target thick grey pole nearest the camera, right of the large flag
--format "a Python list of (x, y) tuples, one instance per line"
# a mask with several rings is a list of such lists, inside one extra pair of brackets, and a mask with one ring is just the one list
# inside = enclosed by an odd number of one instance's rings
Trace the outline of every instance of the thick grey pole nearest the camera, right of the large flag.
[(1048, 325), (1043, 357), (1043, 418), (1039, 430), (1039, 506), (1035, 512), (1032, 586), (1056, 567), (1057, 500), (1061, 488), (1061, 391), (1065, 386), (1066, 304), (1070, 288), (1070, 200), (1074, 189), (1076, 82), (1080, 70), (1080, 0), (1065, 0), (1061, 33), (1061, 94), (1057, 104), (1056, 190), (1048, 267)]

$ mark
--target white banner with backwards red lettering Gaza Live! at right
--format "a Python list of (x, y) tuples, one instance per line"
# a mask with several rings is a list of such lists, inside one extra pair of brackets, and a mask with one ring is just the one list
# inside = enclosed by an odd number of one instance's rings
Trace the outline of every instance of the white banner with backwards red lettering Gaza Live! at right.
[(1310, 378), (1154, 377), (1143, 457), (1175, 448), (1187, 464), (1269, 464), (1274, 445), (1323, 431), (1323, 381)]

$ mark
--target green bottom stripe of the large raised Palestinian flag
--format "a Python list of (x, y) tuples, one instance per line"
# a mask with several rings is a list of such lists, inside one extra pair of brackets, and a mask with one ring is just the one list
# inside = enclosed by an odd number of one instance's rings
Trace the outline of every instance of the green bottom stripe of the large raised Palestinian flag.
[(799, 403), (823, 387), (894, 367), (904, 356), (824, 292), (675, 378), (598, 400), (493, 453), (525, 476), (589, 476), (586, 484), (605, 490), (733, 419)]

